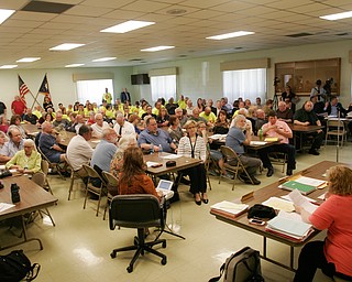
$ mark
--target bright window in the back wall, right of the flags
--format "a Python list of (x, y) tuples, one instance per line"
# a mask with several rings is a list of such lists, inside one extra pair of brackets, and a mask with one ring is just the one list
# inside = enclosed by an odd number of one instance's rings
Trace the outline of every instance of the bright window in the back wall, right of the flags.
[(112, 79), (77, 80), (76, 85), (78, 101), (81, 104), (86, 104), (86, 100), (89, 100), (100, 105), (106, 88), (113, 96)]

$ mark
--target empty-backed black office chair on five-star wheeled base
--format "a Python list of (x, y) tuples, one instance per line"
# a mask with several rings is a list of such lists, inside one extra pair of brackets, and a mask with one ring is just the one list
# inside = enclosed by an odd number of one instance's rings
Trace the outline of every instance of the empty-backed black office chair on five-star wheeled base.
[(134, 262), (140, 254), (144, 254), (144, 251), (161, 257), (162, 264), (166, 264), (166, 256), (152, 249), (158, 243), (166, 248), (166, 240), (145, 242), (145, 228), (160, 227), (164, 229), (165, 227), (165, 212), (161, 208), (161, 203), (155, 196), (145, 194), (114, 196), (109, 209), (109, 224), (110, 230), (114, 230), (117, 226), (138, 229), (138, 237), (135, 237), (133, 246), (114, 249), (110, 253), (111, 258), (116, 258), (120, 251), (136, 250), (127, 268), (129, 273), (133, 271)]

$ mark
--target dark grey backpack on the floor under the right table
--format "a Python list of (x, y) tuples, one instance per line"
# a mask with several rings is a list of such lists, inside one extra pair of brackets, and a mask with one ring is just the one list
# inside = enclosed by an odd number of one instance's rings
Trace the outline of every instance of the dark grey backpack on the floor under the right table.
[(209, 282), (219, 281), (223, 272), (223, 282), (264, 282), (260, 252), (250, 247), (231, 254), (221, 265), (220, 275), (210, 279)]

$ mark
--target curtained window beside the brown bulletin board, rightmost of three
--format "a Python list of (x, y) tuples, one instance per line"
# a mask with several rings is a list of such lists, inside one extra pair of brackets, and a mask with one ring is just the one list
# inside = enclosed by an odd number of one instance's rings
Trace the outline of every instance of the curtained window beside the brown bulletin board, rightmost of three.
[(265, 100), (266, 68), (227, 70), (222, 73), (223, 96), (232, 102), (239, 97), (255, 102), (256, 97)]

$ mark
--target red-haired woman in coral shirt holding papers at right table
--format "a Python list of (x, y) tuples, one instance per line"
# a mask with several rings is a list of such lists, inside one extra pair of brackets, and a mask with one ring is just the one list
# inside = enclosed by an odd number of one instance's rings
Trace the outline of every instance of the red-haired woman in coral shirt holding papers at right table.
[(337, 165), (328, 171), (326, 202), (314, 214), (301, 207), (306, 223), (319, 230), (328, 229), (324, 241), (308, 242), (298, 259), (295, 282), (312, 281), (317, 268), (332, 278), (352, 281), (352, 170)]

